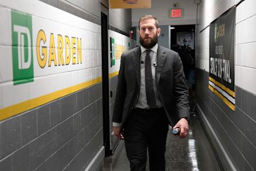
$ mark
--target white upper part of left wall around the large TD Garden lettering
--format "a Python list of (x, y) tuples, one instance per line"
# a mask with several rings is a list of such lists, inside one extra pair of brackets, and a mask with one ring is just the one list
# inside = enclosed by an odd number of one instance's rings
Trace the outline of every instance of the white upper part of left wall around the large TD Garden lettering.
[[(34, 82), (13, 85), (11, 9), (31, 15), (33, 36)], [(3, 108), (30, 99), (63, 90), (86, 81), (101, 78), (101, 27), (75, 15), (59, 10), (40, 1), (29, 0), (26, 5), (19, 1), (3, 1), (0, 5), (0, 114)], [(57, 36), (63, 42), (68, 36), (82, 39), (82, 64), (39, 67), (36, 40), (39, 30), (44, 30), (49, 56), (50, 33), (54, 34), (55, 53), (58, 60)], [(41, 41), (41, 45), (43, 41)], [(41, 46), (40, 46), (41, 48)], [(65, 50), (62, 53), (65, 58)], [(57, 62), (58, 64), (58, 62)], [(19, 96), (17, 96), (19, 95)]]

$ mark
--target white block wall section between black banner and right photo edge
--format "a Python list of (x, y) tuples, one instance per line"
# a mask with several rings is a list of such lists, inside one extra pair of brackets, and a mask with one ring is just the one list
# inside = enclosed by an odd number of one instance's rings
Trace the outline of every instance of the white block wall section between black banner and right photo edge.
[(236, 9), (235, 84), (256, 95), (256, 1)]

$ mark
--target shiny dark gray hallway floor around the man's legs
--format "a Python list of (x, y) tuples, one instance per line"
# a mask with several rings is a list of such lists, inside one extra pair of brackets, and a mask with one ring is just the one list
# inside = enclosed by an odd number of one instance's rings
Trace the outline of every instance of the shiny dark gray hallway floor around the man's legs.
[[(197, 117), (191, 116), (189, 136), (180, 139), (169, 130), (166, 141), (166, 171), (171, 170), (220, 170), (217, 160), (210, 147), (209, 141), (198, 122)], [(130, 170), (126, 158), (124, 142), (119, 145), (111, 157), (104, 160), (104, 171)], [(149, 170), (148, 163), (146, 170)]]

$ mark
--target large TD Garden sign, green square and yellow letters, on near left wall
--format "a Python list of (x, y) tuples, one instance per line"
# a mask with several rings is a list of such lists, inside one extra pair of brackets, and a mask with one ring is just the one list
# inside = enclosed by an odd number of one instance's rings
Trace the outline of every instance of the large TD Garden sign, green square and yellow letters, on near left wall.
[[(37, 24), (37, 23), (34, 23)], [(43, 29), (37, 32), (33, 46), (32, 16), (11, 11), (13, 84), (34, 82), (34, 60), (42, 70), (49, 67), (66, 67), (82, 64), (82, 38), (64, 36)], [(49, 39), (46, 36), (49, 35)], [(56, 41), (57, 40), (57, 41)], [(33, 47), (35, 53), (33, 54)], [(48, 64), (48, 65), (46, 65)], [(38, 73), (38, 74), (39, 74)]]

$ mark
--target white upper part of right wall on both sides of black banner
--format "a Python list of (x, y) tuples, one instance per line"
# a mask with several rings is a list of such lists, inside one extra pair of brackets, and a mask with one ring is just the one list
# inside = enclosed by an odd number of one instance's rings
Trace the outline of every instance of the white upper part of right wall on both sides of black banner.
[[(196, 42), (197, 68), (209, 72), (210, 29), (207, 25), (238, 2), (238, 0), (202, 1)], [(237, 6), (235, 28), (235, 85), (254, 93), (254, 95), (256, 95), (255, 6), (256, 1), (254, 0), (246, 0)], [(203, 31), (199, 33), (201, 30)]]

